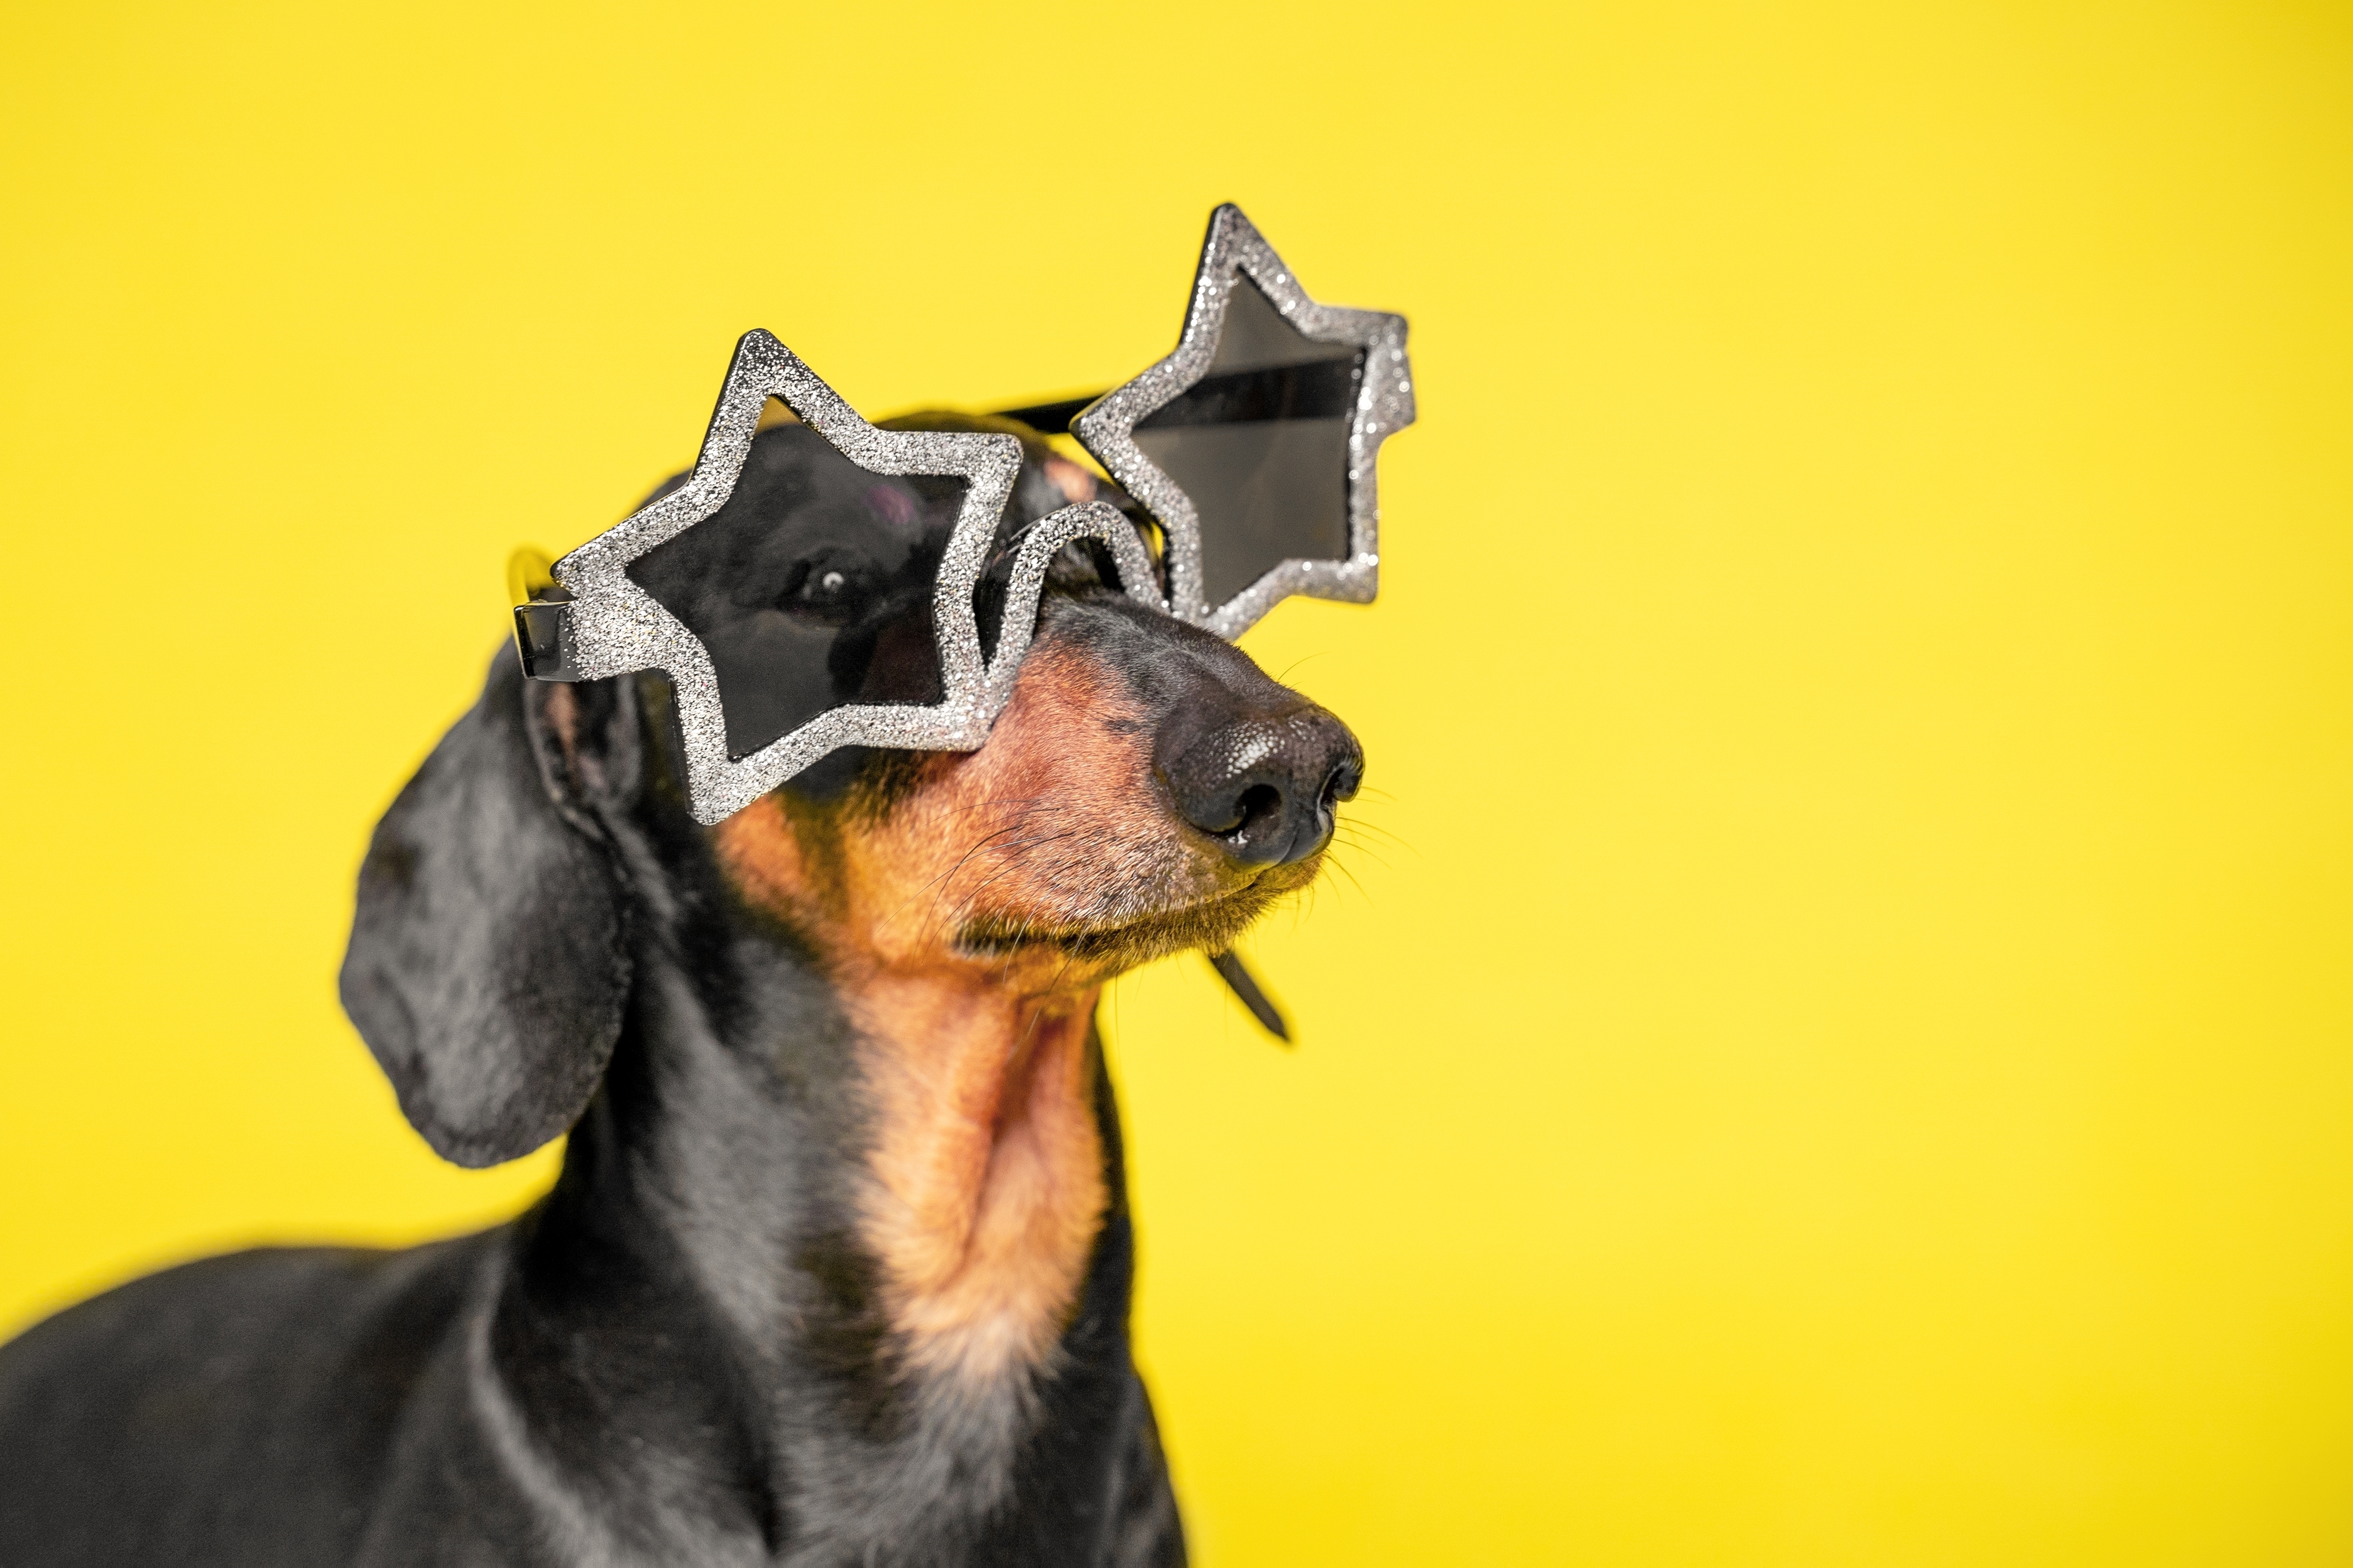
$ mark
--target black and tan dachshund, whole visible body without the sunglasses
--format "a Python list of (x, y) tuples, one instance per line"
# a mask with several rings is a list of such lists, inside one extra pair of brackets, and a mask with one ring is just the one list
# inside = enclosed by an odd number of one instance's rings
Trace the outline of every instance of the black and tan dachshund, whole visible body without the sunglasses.
[[(1028, 443), (1007, 530), (1092, 485)], [(793, 539), (936, 504), (765, 431), (725, 603), (800, 612)], [(715, 829), (666, 683), (501, 655), (376, 829), (344, 1003), (435, 1149), (569, 1130), (562, 1177), (26, 1333), (0, 1566), (1184, 1561), (1094, 1003), (1306, 885), (1360, 756), (1106, 572), (1056, 563), (984, 749), (838, 753)]]

